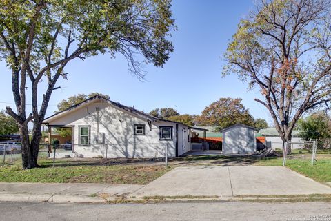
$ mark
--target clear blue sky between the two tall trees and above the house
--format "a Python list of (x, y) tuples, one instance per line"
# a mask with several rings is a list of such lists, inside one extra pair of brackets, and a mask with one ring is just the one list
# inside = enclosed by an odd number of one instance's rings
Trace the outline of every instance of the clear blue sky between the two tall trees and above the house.
[[(99, 55), (85, 61), (73, 61), (50, 100), (48, 113), (70, 95), (100, 92), (110, 99), (143, 111), (177, 106), (179, 113), (200, 114), (205, 106), (220, 97), (241, 97), (254, 117), (271, 123), (268, 111), (254, 102), (261, 97), (258, 90), (248, 90), (248, 84), (231, 74), (222, 77), (222, 55), (236, 32), (239, 20), (254, 7), (251, 0), (177, 0), (172, 3), (178, 31), (172, 33), (174, 52), (163, 68), (146, 66), (146, 81), (128, 73), (126, 60), (120, 55)], [(0, 109), (12, 106), (10, 70), (0, 63)], [(39, 90), (41, 99), (43, 87)], [(28, 99), (27, 104), (30, 104)]]

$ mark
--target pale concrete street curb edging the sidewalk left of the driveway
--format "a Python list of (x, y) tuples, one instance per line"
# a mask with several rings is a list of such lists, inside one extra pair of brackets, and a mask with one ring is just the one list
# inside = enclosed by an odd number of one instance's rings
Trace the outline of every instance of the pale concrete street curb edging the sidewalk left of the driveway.
[(76, 203), (105, 203), (99, 197), (84, 195), (52, 195), (52, 194), (27, 194), (27, 193), (0, 193), (0, 202), (76, 202)]

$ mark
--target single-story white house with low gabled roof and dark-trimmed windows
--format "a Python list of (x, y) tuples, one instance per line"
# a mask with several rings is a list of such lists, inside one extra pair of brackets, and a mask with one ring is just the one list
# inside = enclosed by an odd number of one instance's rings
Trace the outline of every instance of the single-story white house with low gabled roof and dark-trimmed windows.
[(71, 157), (163, 157), (166, 147), (169, 157), (177, 157), (191, 149), (189, 126), (98, 95), (46, 118), (43, 124), (49, 131), (72, 128)]

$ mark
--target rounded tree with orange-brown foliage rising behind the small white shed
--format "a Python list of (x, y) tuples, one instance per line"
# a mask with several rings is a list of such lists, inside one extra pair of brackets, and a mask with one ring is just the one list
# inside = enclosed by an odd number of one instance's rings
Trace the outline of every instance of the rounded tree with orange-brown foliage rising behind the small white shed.
[(241, 99), (223, 97), (212, 102), (198, 117), (199, 126), (216, 126), (217, 130), (234, 124), (254, 126), (254, 118), (248, 109), (241, 104)]

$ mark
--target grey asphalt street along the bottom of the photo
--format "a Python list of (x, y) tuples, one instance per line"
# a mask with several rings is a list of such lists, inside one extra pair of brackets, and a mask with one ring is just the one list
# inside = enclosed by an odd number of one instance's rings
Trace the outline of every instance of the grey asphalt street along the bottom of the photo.
[(0, 220), (331, 220), (331, 203), (56, 204), (0, 202)]

